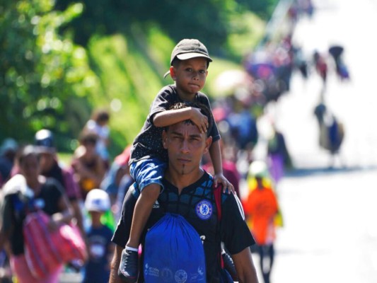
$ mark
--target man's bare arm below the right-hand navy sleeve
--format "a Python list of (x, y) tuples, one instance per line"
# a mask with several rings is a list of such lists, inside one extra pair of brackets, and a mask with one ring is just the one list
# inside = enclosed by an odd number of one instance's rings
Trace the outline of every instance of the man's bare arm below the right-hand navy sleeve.
[(236, 266), (238, 282), (258, 283), (257, 271), (255, 270), (249, 247), (240, 251), (240, 253), (232, 255), (232, 259)]

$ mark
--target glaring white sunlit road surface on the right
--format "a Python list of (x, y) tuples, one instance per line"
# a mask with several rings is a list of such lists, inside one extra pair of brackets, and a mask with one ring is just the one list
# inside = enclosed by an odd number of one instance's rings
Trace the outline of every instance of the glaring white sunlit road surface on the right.
[[(345, 47), (352, 81), (329, 74), (327, 106), (342, 120), (344, 143), (335, 167), (318, 146), (313, 115), (321, 81), (292, 78), (291, 91), (269, 115), (285, 134), (297, 171), (277, 192), (284, 215), (272, 283), (377, 282), (377, 2), (315, 1), (315, 16), (298, 23), (294, 40), (306, 54)], [(255, 257), (258, 266), (257, 257)]]

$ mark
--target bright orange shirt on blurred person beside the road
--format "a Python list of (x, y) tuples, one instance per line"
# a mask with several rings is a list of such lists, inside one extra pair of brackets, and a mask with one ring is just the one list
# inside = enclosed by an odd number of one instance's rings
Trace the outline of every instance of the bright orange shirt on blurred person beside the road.
[(249, 227), (258, 245), (272, 243), (275, 239), (274, 216), (278, 212), (277, 198), (273, 190), (263, 188), (250, 192), (243, 202)]

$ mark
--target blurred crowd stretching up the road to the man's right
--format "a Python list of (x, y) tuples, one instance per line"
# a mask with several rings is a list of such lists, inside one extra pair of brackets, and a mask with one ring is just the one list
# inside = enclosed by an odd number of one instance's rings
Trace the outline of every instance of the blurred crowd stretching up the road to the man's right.
[[(293, 39), (298, 19), (312, 17), (313, 13), (315, 7), (311, 1), (294, 1), (288, 13), (287, 21), (291, 21), (288, 33), (284, 33), (280, 40), (267, 36), (245, 57), (242, 74), (234, 71), (238, 76), (232, 76), (231, 71), (224, 72), (229, 79), (226, 85), (228, 95), (212, 102), (223, 143), (224, 175), (228, 174), (228, 180), (234, 180), (232, 176), (238, 175), (238, 181), (246, 184), (247, 190), (240, 193), (240, 199), (257, 241), (255, 252), (260, 255), (260, 270), (265, 283), (269, 282), (274, 262), (274, 229), (283, 225), (278, 201), (279, 182), (287, 170), (294, 168), (284, 132), (274, 120), (279, 117), (268, 115), (265, 111), (267, 105), (278, 102), (284, 93), (289, 92), (294, 72), (304, 81), (316, 77), (323, 84), (313, 115), (319, 127), (318, 146), (329, 153), (330, 167), (334, 165), (334, 157), (339, 154), (344, 139), (344, 125), (326, 105), (325, 96), (329, 74), (335, 75), (339, 83), (351, 79), (344, 47), (331, 45), (327, 50), (306, 54)], [(219, 77), (221, 80), (226, 78)], [(257, 153), (260, 144), (264, 147), (262, 155)], [(233, 168), (233, 173), (228, 173), (225, 168)], [(233, 181), (233, 185), (239, 192), (239, 183)]]

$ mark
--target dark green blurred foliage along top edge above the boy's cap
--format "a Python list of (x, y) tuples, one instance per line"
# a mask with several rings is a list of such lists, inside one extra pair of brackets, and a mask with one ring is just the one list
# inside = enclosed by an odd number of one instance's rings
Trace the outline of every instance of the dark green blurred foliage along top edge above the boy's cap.
[[(75, 0), (57, 0), (55, 8), (64, 9)], [(82, 0), (84, 11), (66, 28), (74, 30), (74, 41), (86, 46), (94, 34), (127, 34), (132, 26), (158, 25), (174, 42), (197, 38), (206, 42), (211, 54), (224, 55), (232, 26), (230, 16), (257, 11), (265, 18), (277, 0)], [(254, 9), (254, 10), (253, 10)]]

